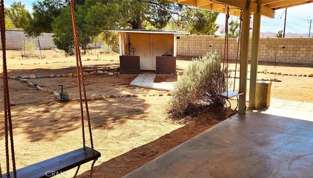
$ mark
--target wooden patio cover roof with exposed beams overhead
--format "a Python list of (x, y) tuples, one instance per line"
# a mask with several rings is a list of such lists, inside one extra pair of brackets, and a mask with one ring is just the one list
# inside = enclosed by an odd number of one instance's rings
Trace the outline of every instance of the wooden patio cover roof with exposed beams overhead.
[[(246, 9), (247, 0), (169, 0), (185, 5), (191, 5), (214, 12), (226, 13), (226, 6), (230, 8), (230, 15), (239, 16), (241, 9)], [(251, 0), (251, 12), (257, 13), (257, 4), (261, 5), (262, 16), (275, 18), (275, 10), (313, 2), (313, 0)]]

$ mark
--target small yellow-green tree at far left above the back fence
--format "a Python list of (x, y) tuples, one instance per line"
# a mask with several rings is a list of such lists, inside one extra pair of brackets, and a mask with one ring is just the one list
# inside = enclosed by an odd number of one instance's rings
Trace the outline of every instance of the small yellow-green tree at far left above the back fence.
[(9, 8), (4, 9), (5, 17), (10, 19), (15, 28), (23, 29), (25, 20), (30, 17), (29, 12), (25, 9), (25, 5), (21, 1), (14, 1)]

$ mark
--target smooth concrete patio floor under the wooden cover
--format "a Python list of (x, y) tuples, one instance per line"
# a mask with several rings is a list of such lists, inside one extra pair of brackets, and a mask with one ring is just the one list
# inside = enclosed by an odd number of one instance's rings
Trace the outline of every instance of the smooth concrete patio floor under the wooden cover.
[(125, 178), (312, 178), (312, 112), (270, 107), (215, 125)]

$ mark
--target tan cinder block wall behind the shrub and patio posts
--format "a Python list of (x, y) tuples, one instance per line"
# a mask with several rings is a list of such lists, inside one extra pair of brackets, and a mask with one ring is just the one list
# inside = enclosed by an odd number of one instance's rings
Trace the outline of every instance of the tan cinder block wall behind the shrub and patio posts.
[[(251, 52), (249, 41), (249, 52)], [(313, 64), (313, 38), (261, 38), (259, 61), (280, 63)], [(235, 60), (237, 55), (237, 39), (229, 38), (228, 56)], [(177, 56), (199, 57), (210, 51), (224, 54), (224, 38), (213, 38), (208, 35), (183, 35), (177, 40)], [(249, 53), (249, 60), (251, 54)]]

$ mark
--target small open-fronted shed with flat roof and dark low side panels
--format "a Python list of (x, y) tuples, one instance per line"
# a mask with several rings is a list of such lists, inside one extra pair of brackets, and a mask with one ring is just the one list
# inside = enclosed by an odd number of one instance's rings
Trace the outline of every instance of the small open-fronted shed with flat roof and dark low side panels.
[(157, 68), (161, 67), (156, 65), (157, 57), (165, 54), (174, 58), (163, 59), (159, 64), (168, 67), (169, 65), (164, 61), (175, 60), (176, 63), (176, 40), (179, 39), (180, 34), (190, 34), (185, 31), (169, 30), (115, 29), (113, 31), (118, 32), (120, 66), (121, 73), (124, 74), (138, 74), (140, 70), (157, 72)]

